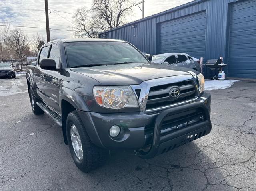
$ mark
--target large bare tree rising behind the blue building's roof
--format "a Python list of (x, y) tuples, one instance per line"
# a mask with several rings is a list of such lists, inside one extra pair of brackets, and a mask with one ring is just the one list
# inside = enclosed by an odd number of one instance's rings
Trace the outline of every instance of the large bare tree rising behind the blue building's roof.
[(94, 0), (94, 17), (104, 23), (102, 30), (112, 29), (124, 24), (124, 18), (133, 12), (137, 0)]

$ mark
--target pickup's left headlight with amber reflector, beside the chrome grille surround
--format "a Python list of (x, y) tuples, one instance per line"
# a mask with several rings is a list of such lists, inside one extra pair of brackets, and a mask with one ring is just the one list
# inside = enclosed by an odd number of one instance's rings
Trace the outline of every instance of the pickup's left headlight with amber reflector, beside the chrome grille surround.
[(102, 107), (110, 109), (138, 107), (138, 101), (130, 86), (94, 86), (93, 95)]

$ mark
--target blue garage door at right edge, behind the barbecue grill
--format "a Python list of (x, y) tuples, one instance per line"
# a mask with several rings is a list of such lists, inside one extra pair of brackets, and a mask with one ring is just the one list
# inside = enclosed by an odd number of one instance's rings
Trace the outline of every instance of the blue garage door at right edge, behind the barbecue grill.
[(256, 0), (231, 6), (228, 77), (256, 78)]

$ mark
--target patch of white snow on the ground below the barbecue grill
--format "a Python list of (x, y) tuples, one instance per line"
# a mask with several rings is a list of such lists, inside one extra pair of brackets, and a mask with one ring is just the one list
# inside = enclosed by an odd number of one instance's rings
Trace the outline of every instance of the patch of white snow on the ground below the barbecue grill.
[(241, 80), (206, 80), (205, 90), (219, 90), (231, 87), (234, 82), (241, 82)]

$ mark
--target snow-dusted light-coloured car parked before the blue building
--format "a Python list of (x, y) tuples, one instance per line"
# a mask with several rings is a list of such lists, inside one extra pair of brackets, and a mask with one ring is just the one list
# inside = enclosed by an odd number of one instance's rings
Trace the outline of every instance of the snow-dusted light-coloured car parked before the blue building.
[(151, 62), (186, 67), (201, 72), (200, 60), (185, 53), (164, 53), (154, 55), (152, 56)]

